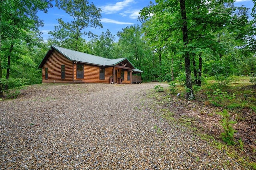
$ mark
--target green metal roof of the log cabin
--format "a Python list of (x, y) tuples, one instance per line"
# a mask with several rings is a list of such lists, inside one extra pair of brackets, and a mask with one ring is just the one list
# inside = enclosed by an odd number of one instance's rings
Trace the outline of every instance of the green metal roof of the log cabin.
[[(67, 48), (62, 48), (58, 46), (51, 46), (51, 50), (47, 52), (47, 54), (44, 56), (42, 62), (39, 64), (39, 68), (42, 68), (50, 54), (52, 53), (53, 50), (57, 50), (64, 56), (66, 56), (69, 60), (73, 62), (82, 62), (86, 64), (92, 64), (92, 65), (97, 65), (97, 66), (115, 66), (116, 64), (127, 60), (131, 66), (136, 69), (133, 64), (128, 60), (128, 58), (116, 58), (116, 59), (109, 59), (109, 58), (103, 58), (99, 56), (94, 56), (91, 54), (86, 54), (83, 52), (78, 52), (75, 50), (69, 50)], [(141, 70), (140, 70), (141, 71)], [(142, 71), (141, 71), (142, 72)]]

